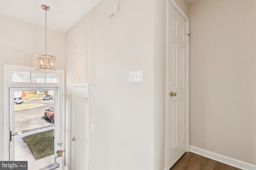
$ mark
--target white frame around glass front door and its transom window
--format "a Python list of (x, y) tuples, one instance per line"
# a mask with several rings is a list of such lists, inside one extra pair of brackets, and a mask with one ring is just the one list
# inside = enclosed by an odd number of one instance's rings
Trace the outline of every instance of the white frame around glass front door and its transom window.
[[(20, 72), (37, 72), (42, 73), (43, 71), (35, 70), (34, 67), (27, 67), (27, 66), (15, 66), (15, 65), (7, 65), (4, 64), (4, 160), (8, 161), (10, 159), (9, 153), (9, 88), (58, 88), (58, 96), (59, 96), (59, 128), (63, 129), (61, 133), (59, 133), (59, 142), (63, 143), (62, 147), (59, 149), (65, 149), (65, 95), (64, 95), (64, 85), (65, 85), (65, 75), (64, 70), (56, 70), (54, 72), (44, 72), (44, 73), (52, 73), (58, 74), (59, 82), (58, 83), (33, 83), (33, 82), (12, 82), (12, 72), (13, 71), (20, 71)], [(62, 159), (59, 159), (59, 164), (62, 169), (64, 170), (65, 167), (65, 154), (62, 155)]]

